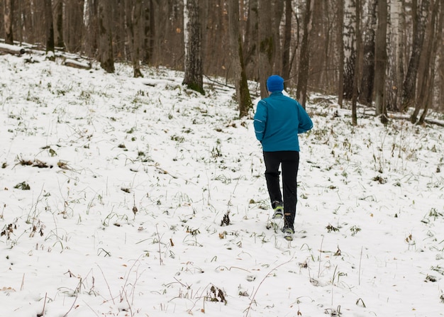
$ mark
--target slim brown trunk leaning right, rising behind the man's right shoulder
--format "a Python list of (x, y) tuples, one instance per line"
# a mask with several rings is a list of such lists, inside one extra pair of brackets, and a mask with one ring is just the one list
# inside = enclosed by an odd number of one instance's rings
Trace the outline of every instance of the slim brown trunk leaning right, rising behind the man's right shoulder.
[(301, 105), (305, 108), (307, 99), (307, 85), (309, 83), (310, 69), (310, 32), (311, 32), (311, 12), (313, 11), (314, 1), (306, 0), (306, 8), (304, 13), (304, 34), (302, 35), (301, 56), (299, 57), (299, 74), (296, 91), (296, 99), (301, 101)]

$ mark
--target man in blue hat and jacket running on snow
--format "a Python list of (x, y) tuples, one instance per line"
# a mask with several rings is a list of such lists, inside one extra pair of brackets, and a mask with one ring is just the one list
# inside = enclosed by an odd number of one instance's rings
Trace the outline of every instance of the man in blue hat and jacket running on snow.
[[(282, 231), (289, 240), (294, 234), (296, 216), (296, 187), (299, 168), (298, 133), (313, 128), (313, 122), (298, 101), (284, 96), (284, 79), (272, 75), (267, 79), (270, 95), (257, 103), (255, 135), (262, 144), (265, 162), (265, 179), (274, 209), (273, 218), (284, 217)], [(282, 169), (282, 189), (279, 182)]]

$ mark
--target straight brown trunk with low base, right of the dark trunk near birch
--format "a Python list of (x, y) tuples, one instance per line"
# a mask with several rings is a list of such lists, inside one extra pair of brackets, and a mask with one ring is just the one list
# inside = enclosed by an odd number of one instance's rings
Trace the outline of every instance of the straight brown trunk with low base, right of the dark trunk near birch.
[(377, 0), (378, 24), (376, 34), (376, 50), (374, 65), (374, 106), (376, 116), (382, 123), (387, 123), (385, 108), (385, 77), (387, 69), (387, 1)]

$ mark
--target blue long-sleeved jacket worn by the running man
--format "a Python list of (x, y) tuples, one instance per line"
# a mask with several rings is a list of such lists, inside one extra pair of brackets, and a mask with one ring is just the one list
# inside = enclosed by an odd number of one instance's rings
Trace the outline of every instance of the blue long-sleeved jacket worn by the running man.
[(299, 151), (298, 133), (313, 128), (313, 122), (298, 101), (274, 91), (257, 103), (255, 134), (265, 152)]

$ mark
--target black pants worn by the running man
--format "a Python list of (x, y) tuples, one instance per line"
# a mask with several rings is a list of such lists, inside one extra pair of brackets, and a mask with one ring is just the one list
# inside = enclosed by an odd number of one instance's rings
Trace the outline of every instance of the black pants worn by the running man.
[[(293, 228), (296, 216), (297, 203), (297, 174), (299, 169), (299, 152), (277, 151), (264, 152), (265, 179), (267, 180), (268, 194), (270, 200), (283, 201), (284, 203), (284, 226)], [(282, 169), (282, 189), (284, 199), (282, 200), (279, 182), (279, 165)]]

